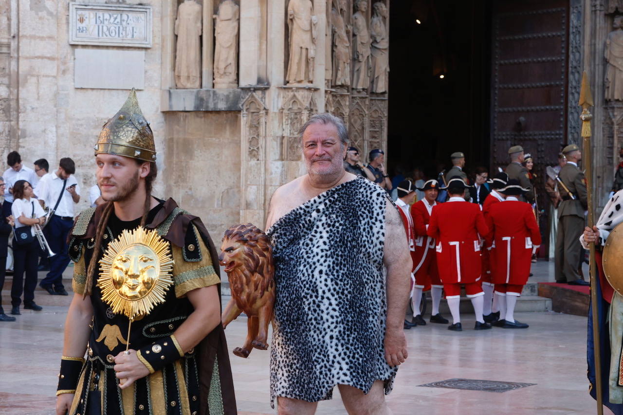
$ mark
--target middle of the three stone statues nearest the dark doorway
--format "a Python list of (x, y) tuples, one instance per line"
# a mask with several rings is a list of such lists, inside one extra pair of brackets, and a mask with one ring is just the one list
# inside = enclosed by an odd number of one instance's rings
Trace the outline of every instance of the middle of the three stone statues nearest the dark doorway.
[(353, 89), (368, 89), (370, 83), (370, 35), (368, 32), (368, 0), (358, 0), (353, 14)]

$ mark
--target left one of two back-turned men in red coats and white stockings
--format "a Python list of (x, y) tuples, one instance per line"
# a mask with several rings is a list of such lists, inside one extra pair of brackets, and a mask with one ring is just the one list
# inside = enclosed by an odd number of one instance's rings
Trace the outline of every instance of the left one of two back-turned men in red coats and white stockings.
[(437, 268), (444, 282), (445, 298), (453, 320), (448, 330), (455, 332), (463, 330), (459, 314), (462, 284), (465, 284), (465, 292), (472, 300), (476, 315), (474, 330), (491, 328), (482, 318), (484, 293), (480, 286), (480, 235), (486, 236), (489, 229), (480, 205), (465, 201), (465, 189), (468, 188), (460, 178), (448, 182), (444, 189), (447, 189), (450, 199), (432, 210), (427, 231), (428, 236), (437, 241)]

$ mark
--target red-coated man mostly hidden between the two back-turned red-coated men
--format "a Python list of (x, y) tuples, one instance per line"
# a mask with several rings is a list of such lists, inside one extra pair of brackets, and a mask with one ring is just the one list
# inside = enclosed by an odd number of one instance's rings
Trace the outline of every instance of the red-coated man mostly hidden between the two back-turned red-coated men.
[[(508, 182), (508, 174), (503, 171), (496, 174), (492, 180), (488, 181), (491, 185), (491, 193), (487, 195), (485, 203), (482, 205), (482, 214), (485, 216), (485, 221), (487, 220), (491, 206), (504, 200), (505, 196), (499, 192), (500, 189), (506, 187), (506, 182)], [(495, 265), (491, 260), (491, 252), (493, 249), (495, 249), (495, 247), (482, 250), (482, 290), (485, 292), (482, 313), (487, 323), (493, 323), (500, 318), (497, 298), (493, 295), (493, 281), (491, 277), (492, 268)]]

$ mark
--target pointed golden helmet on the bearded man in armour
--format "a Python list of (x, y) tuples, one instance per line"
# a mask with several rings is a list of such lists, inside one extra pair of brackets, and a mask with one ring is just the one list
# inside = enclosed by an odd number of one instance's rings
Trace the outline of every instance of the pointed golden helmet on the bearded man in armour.
[(138, 106), (134, 88), (123, 107), (104, 124), (95, 145), (95, 155), (98, 154), (156, 162), (154, 135)]

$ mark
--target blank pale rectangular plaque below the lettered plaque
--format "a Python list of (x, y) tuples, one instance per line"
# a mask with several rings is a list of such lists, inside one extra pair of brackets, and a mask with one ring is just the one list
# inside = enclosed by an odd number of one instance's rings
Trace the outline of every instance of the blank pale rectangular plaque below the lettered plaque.
[(74, 88), (144, 89), (145, 50), (76, 49)]

